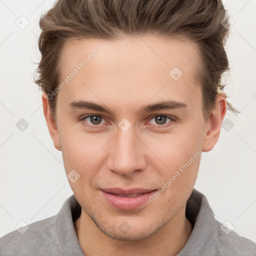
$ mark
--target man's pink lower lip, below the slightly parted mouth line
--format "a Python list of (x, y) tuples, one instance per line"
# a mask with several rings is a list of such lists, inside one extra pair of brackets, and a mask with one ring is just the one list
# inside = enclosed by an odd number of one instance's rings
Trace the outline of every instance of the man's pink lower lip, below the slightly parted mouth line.
[(118, 196), (115, 194), (111, 194), (108, 192), (103, 192), (104, 197), (106, 200), (114, 207), (119, 209), (125, 209), (125, 210), (131, 210), (136, 209), (139, 206), (141, 206), (143, 203), (145, 203), (149, 196), (152, 195), (156, 190), (150, 191), (148, 193), (143, 193), (141, 195), (132, 196), (132, 197), (124, 197), (124, 196)]

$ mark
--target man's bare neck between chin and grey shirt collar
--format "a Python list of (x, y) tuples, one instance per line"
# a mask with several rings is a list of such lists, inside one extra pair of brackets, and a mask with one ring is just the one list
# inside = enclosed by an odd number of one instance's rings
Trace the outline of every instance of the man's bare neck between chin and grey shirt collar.
[(102, 233), (85, 211), (74, 222), (84, 255), (176, 255), (186, 244), (192, 225), (183, 207), (165, 226), (141, 240), (115, 240)]

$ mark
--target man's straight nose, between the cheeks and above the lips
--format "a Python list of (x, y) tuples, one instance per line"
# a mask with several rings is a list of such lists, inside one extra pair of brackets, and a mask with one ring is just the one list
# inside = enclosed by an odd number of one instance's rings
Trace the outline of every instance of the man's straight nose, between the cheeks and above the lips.
[(126, 131), (118, 127), (116, 135), (111, 139), (108, 169), (122, 176), (142, 171), (146, 167), (145, 145), (134, 133), (132, 126)]

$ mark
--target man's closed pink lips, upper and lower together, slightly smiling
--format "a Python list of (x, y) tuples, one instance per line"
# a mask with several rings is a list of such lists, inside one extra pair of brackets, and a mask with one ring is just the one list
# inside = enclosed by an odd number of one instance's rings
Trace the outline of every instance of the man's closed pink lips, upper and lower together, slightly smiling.
[[(106, 201), (111, 204), (112, 206), (119, 208), (119, 209), (125, 209), (125, 210), (131, 210), (136, 209), (143, 205), (146, 201), (148, 201), (148, 198), (150, 195), (152, 195), (156, 189), (144, 189), (144, 188), (131, 188), (131, 189), (122, 189), (122, 188), (102, 188), (100, 189), (102, 191), (102, 194)], [(132, 197), (125, 197), (125, 196), (119, 196), (118, 194), (122, 195), (129, 195), (129, 194), (138, 194), (142, 193), (141, 195), (132, 196)]]

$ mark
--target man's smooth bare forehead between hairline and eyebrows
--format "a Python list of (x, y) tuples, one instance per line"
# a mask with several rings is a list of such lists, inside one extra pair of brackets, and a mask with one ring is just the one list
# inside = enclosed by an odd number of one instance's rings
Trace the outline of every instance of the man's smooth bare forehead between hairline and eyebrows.
[(130, 102), (141, 97), (149, 100), (157, 94), (158, 98), (169, 95), (189, 104), (200, 96), (198, 48), (186, 40), (152, 35), (114, 40), (83, 38), (68, 41), (60, 59), (61, 81), (76, 73), (59, 93), (65, 91), (69, 101), (86, 97), (90, 89), (91, 96), (94, 91), (98, 98), (118, 96)]

